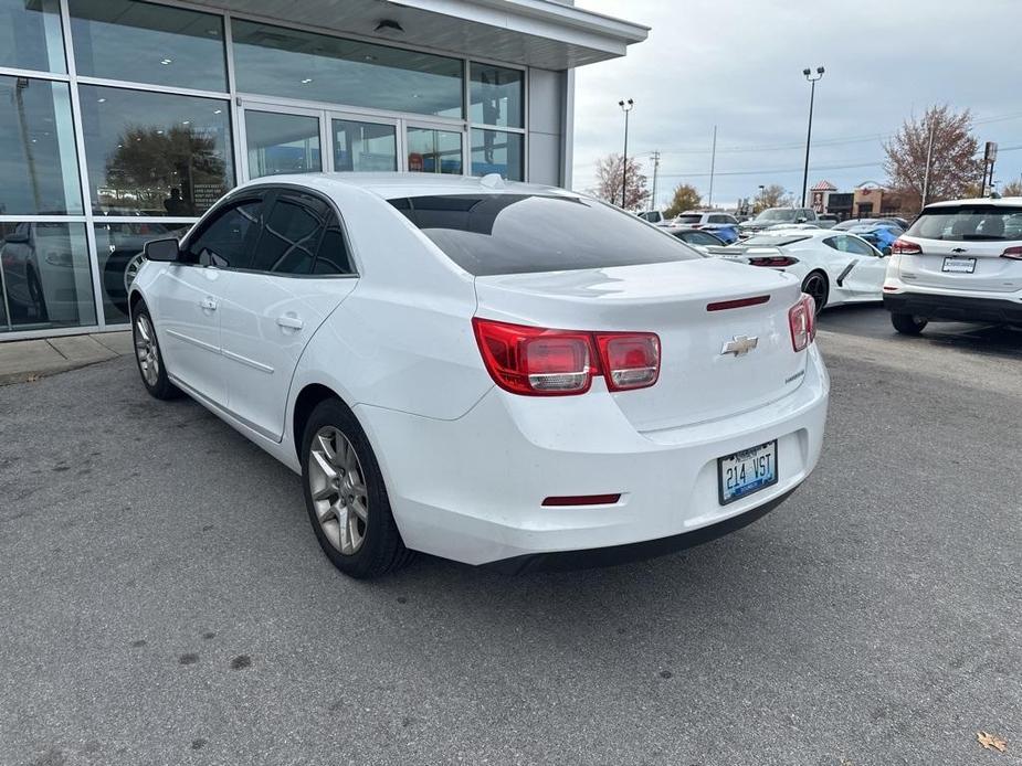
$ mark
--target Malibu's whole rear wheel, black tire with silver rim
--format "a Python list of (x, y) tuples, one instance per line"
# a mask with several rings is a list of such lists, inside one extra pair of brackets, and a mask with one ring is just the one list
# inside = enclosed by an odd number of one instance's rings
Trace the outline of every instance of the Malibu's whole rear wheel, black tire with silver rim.
[(338, 570), (369, 579), (411, 560), (366, 432), (339, 400), (319, 403), (309, 415), (302, 479), (316, 540)]

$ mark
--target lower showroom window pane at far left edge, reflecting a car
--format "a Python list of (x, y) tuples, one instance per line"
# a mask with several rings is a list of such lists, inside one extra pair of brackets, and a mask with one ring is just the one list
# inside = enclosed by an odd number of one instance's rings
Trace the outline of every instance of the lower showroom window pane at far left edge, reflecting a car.
[(0, 332), (96, 323), (85, 224), (0, 223)]

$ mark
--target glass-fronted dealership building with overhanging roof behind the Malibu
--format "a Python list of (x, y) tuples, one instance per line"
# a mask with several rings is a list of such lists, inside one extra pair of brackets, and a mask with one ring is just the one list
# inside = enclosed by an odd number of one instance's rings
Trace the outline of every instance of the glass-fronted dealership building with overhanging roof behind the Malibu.
[(143, 244), (249, 179), (570, 185), (573, 68), (647, 31), (552, 0), (0, 0), (0, 341), (126, 329)]

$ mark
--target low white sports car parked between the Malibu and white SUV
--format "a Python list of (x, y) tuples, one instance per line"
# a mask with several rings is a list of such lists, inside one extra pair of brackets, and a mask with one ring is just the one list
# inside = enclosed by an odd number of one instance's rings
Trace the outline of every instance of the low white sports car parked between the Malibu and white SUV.
[(887, 256), (865, 240), (833, 228), (781, 228), (710, 247), (710, 255), (788, 272), (802, 291), (826, 306), (883, 300)]

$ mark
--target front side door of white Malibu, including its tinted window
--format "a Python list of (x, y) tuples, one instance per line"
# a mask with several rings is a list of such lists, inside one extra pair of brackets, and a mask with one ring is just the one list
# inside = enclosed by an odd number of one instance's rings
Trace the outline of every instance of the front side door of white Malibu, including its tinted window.
[(220, 291), (260, 228), (260, 195), (229, 199), (181, 243), (181, 259), (154, 284), (156, 331), (168, 373), (192, 392), (223, 404)]

